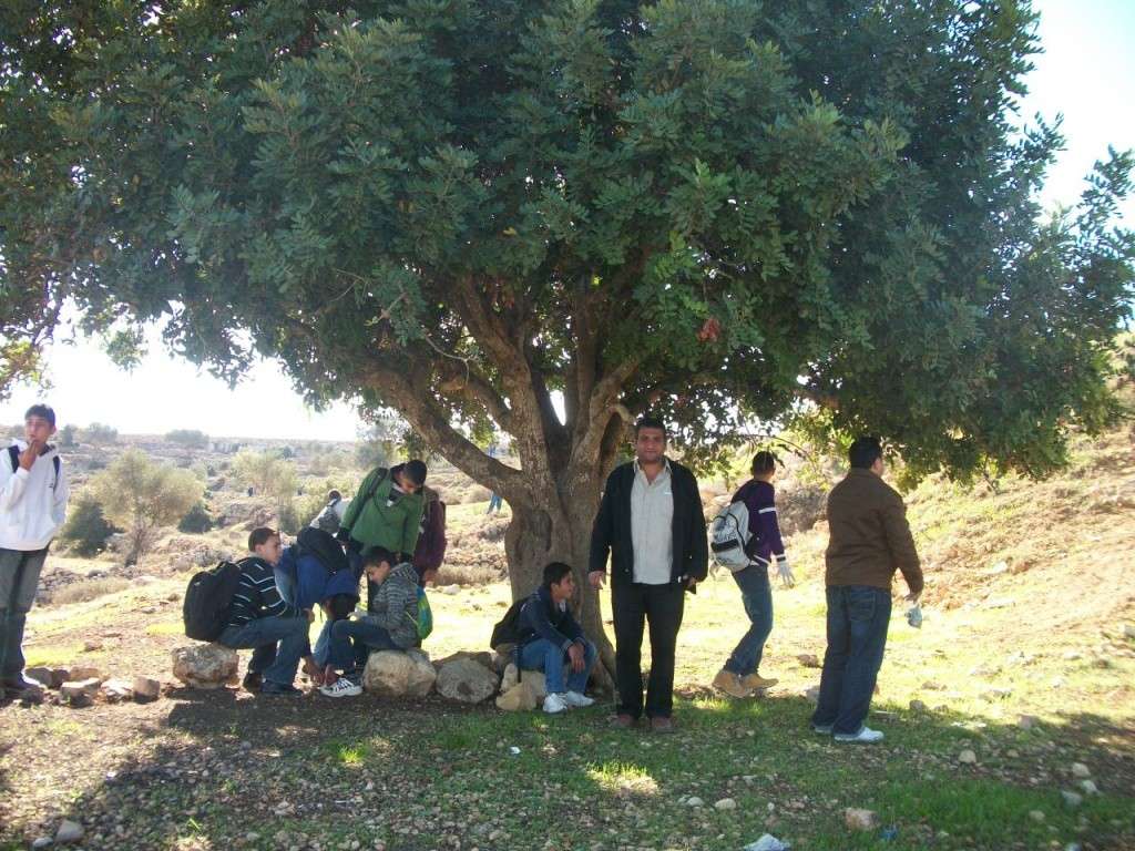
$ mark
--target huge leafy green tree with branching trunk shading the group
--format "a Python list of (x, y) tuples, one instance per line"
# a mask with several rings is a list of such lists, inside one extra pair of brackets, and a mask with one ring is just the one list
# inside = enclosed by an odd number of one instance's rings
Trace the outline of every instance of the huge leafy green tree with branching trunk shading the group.
[[(514, 591), (586, 563), (647, 410), (698, 464), (741, 419), (800, 416), (882, 435), (914, 477), (1043, 474), (1117, 413), (1132, 157), (1040, 220), (1061, 137), (1015, 126), (1027, 0), (0, 22), (6, 332), (69, 297), (92, 330), (161, 318), (221, 376), (261, 354), (314, 402), (396, 408), (513, 506)], [(478, 448), (489, 428), (519, 466)]]

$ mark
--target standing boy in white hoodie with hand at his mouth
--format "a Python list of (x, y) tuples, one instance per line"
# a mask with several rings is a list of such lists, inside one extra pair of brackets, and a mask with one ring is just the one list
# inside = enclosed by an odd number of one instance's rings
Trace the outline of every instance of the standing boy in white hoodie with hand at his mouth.
[(32, 405), (24, 440), (0, 453), (0, 679), (6, 698), (35, 698), (24, 677), (24, 625), (51, 539), (67, 516), (67, 475), (54, 446), (56, 412)]

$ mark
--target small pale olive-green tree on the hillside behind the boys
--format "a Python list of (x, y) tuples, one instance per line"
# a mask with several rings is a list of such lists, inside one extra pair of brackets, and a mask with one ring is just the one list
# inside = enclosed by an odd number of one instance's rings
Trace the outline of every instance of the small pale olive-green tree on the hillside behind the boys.
[(91, 480), (91, 490), (107, 519), (126, 530), (126, 563), (135, 564), (161, 526), (177, 523), (201, 499), (202, 486), (188, 470), (128, 449)]

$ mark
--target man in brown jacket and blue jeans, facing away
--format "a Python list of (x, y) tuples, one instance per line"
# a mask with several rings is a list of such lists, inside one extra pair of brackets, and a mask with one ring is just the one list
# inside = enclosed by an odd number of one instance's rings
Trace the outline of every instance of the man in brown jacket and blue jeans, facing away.
[(883, 481), (878, 438), (851, 444), (851, 470), (827, 496), (827, 651), (812, 728), (840, 742), (877, 742), (864, 724), (883, 663), (891, 617), (891, 576), (907, 581), (911, 603), (923, 589), (907, 511)]

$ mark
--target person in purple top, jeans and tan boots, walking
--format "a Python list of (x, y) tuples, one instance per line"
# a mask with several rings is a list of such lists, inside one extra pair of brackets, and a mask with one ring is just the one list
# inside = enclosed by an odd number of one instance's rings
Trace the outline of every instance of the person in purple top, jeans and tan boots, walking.
[(768, 584), (768, 565), (775, 562), (782, 581), (787, 585), (793, 583), (776, 520), (776, 492), (772, 483), (776, 475), (776, 456), (771, 452), (758, 452), (753, 456), (750, 469), (753, 478), (730, 500), (745, 503), (749, 514), (749, 533), (753, 536), (745, 548), (749, 566), (732, 574), (737, 587), (741, 589), (749, 630), (713, 680), (715, 689), (734, 698), (747, 697), (757, 689), (768, 689), (777, 683), (776, 680), (757, 673), (765, 641), (773, 630), (773, 593)]

